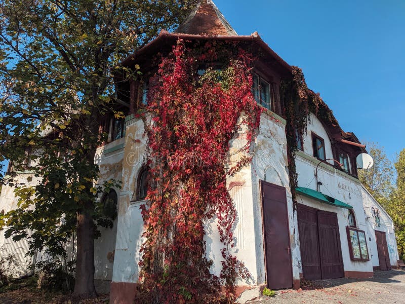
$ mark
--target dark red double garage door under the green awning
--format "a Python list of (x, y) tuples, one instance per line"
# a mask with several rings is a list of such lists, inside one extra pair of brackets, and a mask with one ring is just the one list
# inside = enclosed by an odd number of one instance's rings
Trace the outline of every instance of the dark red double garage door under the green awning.
[(337, 214), (298, 205), (302, 272), (305, 279), (344, 276)]

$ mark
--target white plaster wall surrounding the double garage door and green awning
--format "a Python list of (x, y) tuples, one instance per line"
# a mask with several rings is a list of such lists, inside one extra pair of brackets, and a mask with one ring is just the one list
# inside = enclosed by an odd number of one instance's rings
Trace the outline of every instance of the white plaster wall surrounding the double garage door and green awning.
[[(333, 154), (331, 142), (322, 124), (312, 113), (310, 116), (310, 120), (311, 123), (308, 124), (307, 135), (304, 136), (304, 151), (297, 151), (296, 154), (296, 168), (298, 173), (298, 186), (316, 190), (315, 168), (320, 161), (312, 156), (313, 149), (311, 131), (325, 140), (326, 158), (333, 158)], [(332, 164), (333, 161), (328, 162)], [(373, 251), (371, 251), (371, 245), (373, 242), (369, 241), (370, 234), (368, 232), (369, 229), (366, 222), (365, 209), (363, 208), (364, 201), (361, 183), (358, 181), (358, 179), (327, 164), (321, 164), (318, 167), (318, 181), (322, 182), (322, 185), (319, 186), (320, 192), (341, 200), (353, 207), (357, 227), (358, 229), (364, 230), (366, 232), (369, 255), (372, 256)], [(345, 271), (373, 271), (371, 258), (370, 261), (365, 262), (352, 261), (350, 259), (349, 245), (346, 234), (346, 226), (349, 225), (347, 209), (320, 203), (316, 200), (312, 200), (303, 196), (298, 196), (298, 203), (317, 208), (319, 210), (337, 213), (343, 265)], [(298, 232), (298, 225), (296, 225), (296, 229)], [(299, 239), (298, 233), (296, 234), (296, 238)], [(372, 238), (372, 240), (373, 239), (375, 243), (375, 237)]]

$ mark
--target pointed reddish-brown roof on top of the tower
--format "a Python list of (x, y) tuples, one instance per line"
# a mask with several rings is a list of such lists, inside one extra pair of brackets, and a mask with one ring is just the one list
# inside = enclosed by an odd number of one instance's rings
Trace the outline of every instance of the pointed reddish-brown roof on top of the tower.
[(175, 32), (199, 35), (237, 35), (212, 0), (200, 1)]

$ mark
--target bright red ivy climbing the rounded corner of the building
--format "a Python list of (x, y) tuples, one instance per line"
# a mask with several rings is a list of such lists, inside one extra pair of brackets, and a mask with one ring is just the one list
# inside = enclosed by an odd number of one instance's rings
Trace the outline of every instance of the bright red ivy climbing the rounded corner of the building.
[[(251, 161), (250, 142), (260, 123), (251, 90), (253, 60), (231, 43), (188, 45), (179, 40), (149, 84), (151, 170), (148, 203), (141, 207), (138, 294), (144, 302), (228, 302), (236, 279), (250, 277), (231, 253), (236, 210), (226, 177)], [(248, 156), (229, 168), (229, 141), (242, 125)], [(223, 243), (219, 277), (210, 272), (204, 240), (205, 224), (213, 219)]]

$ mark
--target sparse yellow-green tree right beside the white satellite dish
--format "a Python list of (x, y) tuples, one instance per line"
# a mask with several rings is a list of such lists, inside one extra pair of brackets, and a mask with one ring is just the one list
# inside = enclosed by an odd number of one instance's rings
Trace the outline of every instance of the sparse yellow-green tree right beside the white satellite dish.
[(373, 157), (374, 165), (367, 170), (358, 170), (358, 178), (385, 207), (392, 191), (394, 169), (383, 147), (377, 143), (369, 143), (367, 146), (369, 154)]

